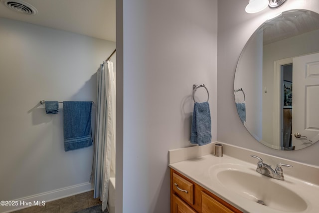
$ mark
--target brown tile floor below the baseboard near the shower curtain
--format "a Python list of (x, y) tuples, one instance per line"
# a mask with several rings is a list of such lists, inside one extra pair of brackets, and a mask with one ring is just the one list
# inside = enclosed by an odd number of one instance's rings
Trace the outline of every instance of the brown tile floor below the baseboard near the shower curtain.
[(45, 206), (29, 207), (13, 213), (74, 213), (98, 204), (102, 204), (102, 202), (99, 198), (93, 199), (93, 191), (90, 191), (47, 202)]

